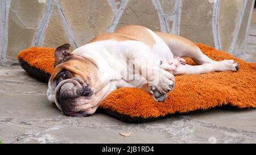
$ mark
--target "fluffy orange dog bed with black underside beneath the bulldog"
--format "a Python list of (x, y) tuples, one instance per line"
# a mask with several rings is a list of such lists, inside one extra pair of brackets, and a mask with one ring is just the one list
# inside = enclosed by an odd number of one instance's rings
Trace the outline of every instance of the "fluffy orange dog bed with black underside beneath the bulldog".
[[(163, 103), (137, 88), (113, 91), (100, 104), (98, 111), (130, 123), (149, 122), (174, 114), (229, 105), (237, 108), (256, 107), (256, 64), (246, 63), (226, 52), (197, 44), (213, 60), (233, 59), (240, 65), (238, 72), (214, 72), (176, 76), (175, 89)], [(53, 48), (31, 47), (18, 55), (20, 65), (32, 77), (47, 82), (53, 70)], [(185, 58), (188, 64), (195, 64)]]

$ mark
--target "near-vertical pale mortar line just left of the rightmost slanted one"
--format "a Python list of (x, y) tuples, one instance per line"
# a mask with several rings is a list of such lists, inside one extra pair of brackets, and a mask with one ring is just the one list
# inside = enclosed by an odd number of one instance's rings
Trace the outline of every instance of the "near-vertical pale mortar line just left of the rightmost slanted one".
[(220, 50), (222, 49), (221, 38), (220, 38), (220, 30), (218, 28), (218, 18), (220, 14), (220, 0), (217, 0), (213, 6), (213, 15), (212, 15), (212, 28), (213, 28), (213, 38), (215, 48)]

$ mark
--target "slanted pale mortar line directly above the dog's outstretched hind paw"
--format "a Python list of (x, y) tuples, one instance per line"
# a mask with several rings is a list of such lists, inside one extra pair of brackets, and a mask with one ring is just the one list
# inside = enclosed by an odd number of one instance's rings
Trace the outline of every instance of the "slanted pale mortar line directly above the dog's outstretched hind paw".
[(240, 16), (240, 18), (238, 20), (236, 32), (235, 32), (235, 35), (233, 37), (232, 43), (231, 43), (231, 45), (229, 47), (229, 53), (232, 53), (232, 54), (234, 52), (234, 48), (235, 48), (235, 45), (236, 45), (236, 42), (237, 42), (238, 34), (240, 32), (240, 28), (241, 28), (243, 17), (245, 16), (246, 5), (247, 5), (247, 0), (244, 0), (243, 1), (243, 6), (242, 6), (242, 13), (241, 13), (241, 16)]

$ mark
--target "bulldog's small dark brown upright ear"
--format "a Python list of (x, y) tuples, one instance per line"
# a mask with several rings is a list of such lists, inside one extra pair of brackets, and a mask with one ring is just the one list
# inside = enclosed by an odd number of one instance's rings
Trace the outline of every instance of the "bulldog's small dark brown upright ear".
[(69, 51), (70, 44), (64, 44), (55, 50), (55, 66), (65, 61), (67, 57), (73, 55), (72, 52)]

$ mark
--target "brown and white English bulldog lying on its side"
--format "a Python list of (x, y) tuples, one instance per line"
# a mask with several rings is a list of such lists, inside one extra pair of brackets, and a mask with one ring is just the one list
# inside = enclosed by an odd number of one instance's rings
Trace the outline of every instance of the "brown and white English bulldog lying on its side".
[[(163, 102), (174, 89), (174, 75), (239, 69), (234, 60), (210, 59), (184, 37), (143, 26), (125, 26), (73, 52), (69, 48), (56, 49), (47, 90), (49, 101), (68, 116), (94, 114), (102, 99), (121, 87), (141, 88)], [(181, 57), (191, 57), (197, 65), (185, 64)]]

